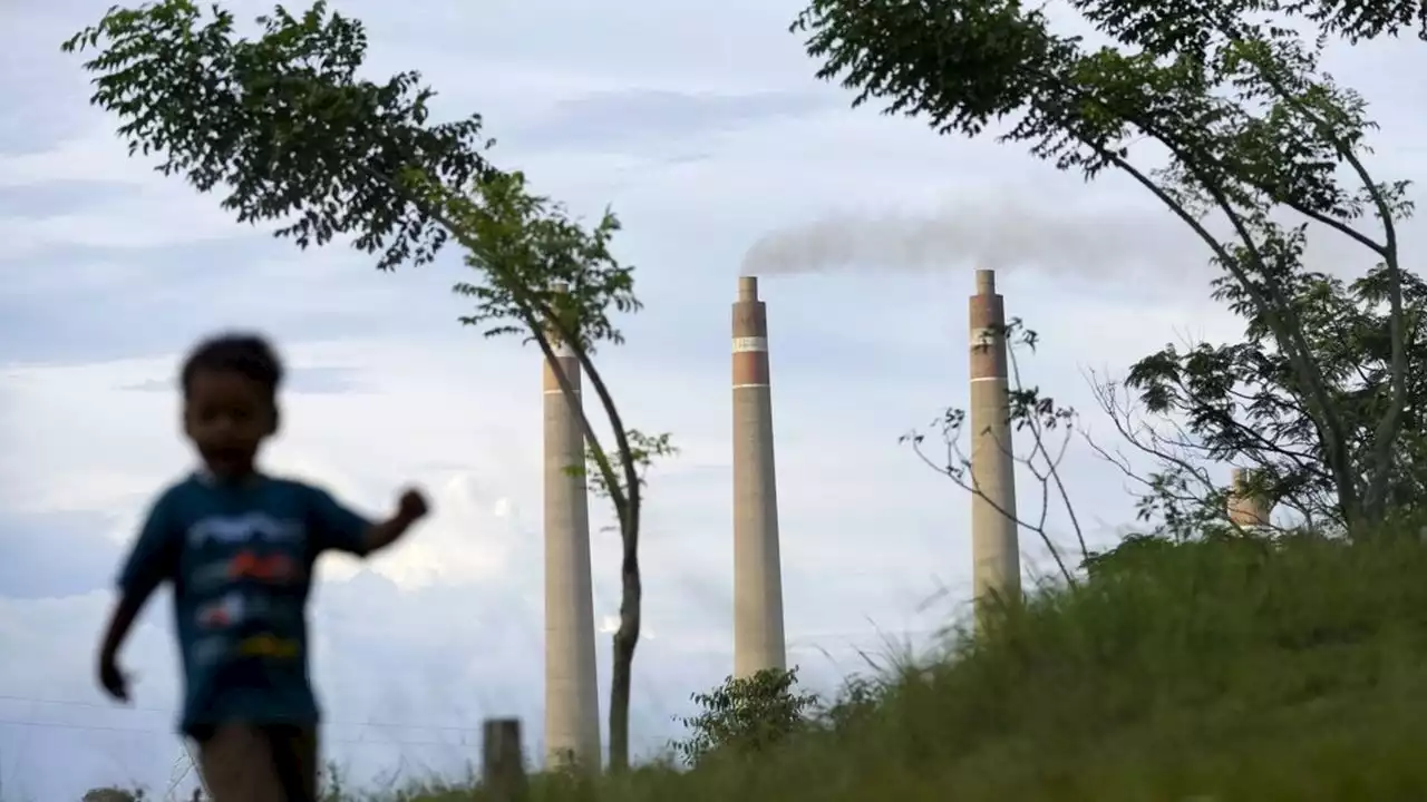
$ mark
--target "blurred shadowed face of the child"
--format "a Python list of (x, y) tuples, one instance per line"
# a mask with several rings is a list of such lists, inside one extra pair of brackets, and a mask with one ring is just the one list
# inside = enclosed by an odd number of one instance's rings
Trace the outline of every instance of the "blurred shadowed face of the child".
[(218, 477), (253, 471), (258, 447), (277, 431), (267, 390), (235, 371), (193, 374), (184, 401), (184, 431)]

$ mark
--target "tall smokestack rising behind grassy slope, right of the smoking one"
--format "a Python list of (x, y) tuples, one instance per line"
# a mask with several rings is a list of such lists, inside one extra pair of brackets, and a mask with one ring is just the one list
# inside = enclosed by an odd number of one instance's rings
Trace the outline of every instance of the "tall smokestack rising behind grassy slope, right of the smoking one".
[(992, 594), (1020, 597), (1016, 471), (1010, 450), (1006, 310), (996, 271), (976, 271), (970, 300), (972, 588), (977, 612)]

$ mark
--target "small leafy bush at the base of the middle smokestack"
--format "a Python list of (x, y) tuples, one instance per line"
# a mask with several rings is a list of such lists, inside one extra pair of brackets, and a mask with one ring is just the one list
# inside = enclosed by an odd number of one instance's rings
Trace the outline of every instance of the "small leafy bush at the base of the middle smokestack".
[(675, 719), (689, 729), (689, 736), (674, 743), (674, 751), (691, 766), (715, 755), (746, 756), (779, 743), (801, 732), (818, 708), (815, 694), (798, 689), (796, 666), (729, 676), (692, 699), (699, 712)]

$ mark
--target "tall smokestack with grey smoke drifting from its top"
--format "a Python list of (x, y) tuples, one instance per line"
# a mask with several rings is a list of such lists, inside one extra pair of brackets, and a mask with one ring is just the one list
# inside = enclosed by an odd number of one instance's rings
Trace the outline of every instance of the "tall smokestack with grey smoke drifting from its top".
[(768, 311), (758, 300), (758, 278), (742, 275), (733, 304), (735, 676), (788, 665), (768, 380)]

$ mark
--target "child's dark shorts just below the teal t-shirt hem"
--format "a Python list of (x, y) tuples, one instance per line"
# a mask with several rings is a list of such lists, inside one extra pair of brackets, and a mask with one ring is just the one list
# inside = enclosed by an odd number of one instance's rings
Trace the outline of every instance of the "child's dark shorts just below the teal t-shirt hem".
[(317, 802), (317, 729), (224, 724), (193, 734), (213, 802)]

